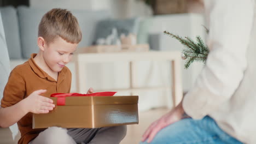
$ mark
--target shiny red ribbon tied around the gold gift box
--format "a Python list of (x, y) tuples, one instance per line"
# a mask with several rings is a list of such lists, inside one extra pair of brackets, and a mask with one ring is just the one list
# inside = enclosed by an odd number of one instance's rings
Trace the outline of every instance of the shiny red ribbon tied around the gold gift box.
[(81, 93), (53, 93), (51, 97), (57, 97), (57, 105), (66, 105), (66, 97), (89, 97), (89, 96), (113, 96), (117, 92), (98, 92), (90, 94)]

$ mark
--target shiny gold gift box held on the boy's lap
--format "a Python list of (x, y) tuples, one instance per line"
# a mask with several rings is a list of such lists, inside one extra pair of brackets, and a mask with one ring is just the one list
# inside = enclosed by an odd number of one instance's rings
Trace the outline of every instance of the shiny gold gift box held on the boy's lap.
[[(56, 105), (57, 98), (51, 98)], [(100, 128), (138, 124), (138, 96), (66, 97), (66, 105), (33, 114), (33, 129)]]

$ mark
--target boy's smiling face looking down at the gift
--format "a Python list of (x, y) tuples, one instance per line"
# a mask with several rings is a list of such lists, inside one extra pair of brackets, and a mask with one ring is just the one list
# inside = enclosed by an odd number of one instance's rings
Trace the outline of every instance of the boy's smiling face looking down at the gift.
[(52, 43), (44, 45), (43, 57), (45, 63), (54, 72), (59, 72), (71, 61), (78, 44), (71, 44), (57, 37)]

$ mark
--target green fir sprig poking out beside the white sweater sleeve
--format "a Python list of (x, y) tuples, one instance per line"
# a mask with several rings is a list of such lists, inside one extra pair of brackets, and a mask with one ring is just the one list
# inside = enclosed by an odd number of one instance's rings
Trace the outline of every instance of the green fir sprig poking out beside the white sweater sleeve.
[[(208, 29), (206, 28), (206, 31), (208, 32)], [(182, 51), (182, 57), (183, 59), (186, 59), (185, 62), (185, 69), (188, 69), (190, 64), (194, 61), (200, 61), (205, 64), (206, 58), (209, 53), (208, 47), (203, 43), (202, 38), (200, 36), (196, 36), (196, 42), (189, 38), (185, 37), (182, 38), (179, 35), (172, 34), (170, 32), (164, 31), (165, 34), (170, 35), (172, 38), (177, 39), (181, 44), (183, 44), (185, 47)]]

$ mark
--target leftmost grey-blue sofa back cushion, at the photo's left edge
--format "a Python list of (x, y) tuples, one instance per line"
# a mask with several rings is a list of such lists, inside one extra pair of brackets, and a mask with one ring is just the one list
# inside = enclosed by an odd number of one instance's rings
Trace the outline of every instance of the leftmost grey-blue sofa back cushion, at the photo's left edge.
[(14, 7), (0, 8), (5, 38), (11, 59), (21, 59), (20, 32), (17, 11)]

